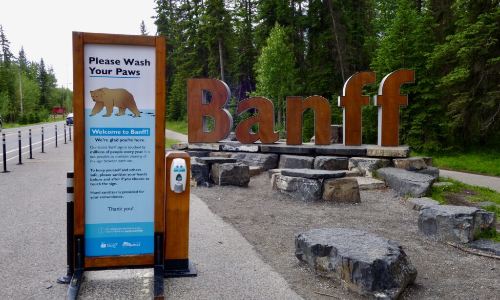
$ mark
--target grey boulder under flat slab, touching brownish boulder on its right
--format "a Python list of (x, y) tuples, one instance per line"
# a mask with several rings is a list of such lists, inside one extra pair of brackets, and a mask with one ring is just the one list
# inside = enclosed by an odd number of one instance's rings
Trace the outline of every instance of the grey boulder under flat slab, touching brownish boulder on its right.
[(321, 181), (319, 179), (276, 176), (276, 185), (282, 193), (305, 201), (321, 199)]

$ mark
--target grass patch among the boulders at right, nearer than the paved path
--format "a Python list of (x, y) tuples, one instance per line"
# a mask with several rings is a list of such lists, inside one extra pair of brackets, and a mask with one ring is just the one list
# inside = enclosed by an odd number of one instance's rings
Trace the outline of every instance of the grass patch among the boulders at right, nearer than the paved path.
[[(463, 193), (466, 190), (472, 191), (470, 196), (467, 196), (468, 201), (482, 202), (489, 201), (500, 204), (500, 192), (488, 187), (470, 185), (451, 178), (439, 178), (440, 181), (447, 181), (453, 184), (443, 186), (432, 186), (432, 199), (438, 201), (440, 204), (447, 204), (446, 197), (451, 193)], [(500, 207), (495, 205), (484, 206), (483, 209), (493, 211), (500, 217)]]

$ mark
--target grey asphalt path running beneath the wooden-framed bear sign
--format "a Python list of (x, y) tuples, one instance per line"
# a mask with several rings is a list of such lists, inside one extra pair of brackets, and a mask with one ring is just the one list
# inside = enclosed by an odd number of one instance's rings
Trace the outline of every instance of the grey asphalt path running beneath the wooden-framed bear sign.
[[(66, 171), (72, 141), (0, 173), (0, 299), (61, 299), (67, 285)], [(164, 279), (167, 299), (301, 299), (252, 245), (199, 198), (190, 201), (197, 277)], [(151, 299), (152, 269), (85, 273), (81, 299)]]

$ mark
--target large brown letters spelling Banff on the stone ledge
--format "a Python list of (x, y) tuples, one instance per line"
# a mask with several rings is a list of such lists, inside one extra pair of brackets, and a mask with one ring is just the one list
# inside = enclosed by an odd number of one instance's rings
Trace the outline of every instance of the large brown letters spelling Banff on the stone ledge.
[[(403, 83), (414, 82), (414, 71), (400, 69), (387, 74), (374, 96), (378, 106), (378, 145), (397, 146), (399, 135), (399, 106), (407, 105), (407, 95), (399, 89)], [(369, 105), (369, 96), (362, 94), (365, 84), (375, 84), (375, 72), (358, 72), (347, 79), (338, 106), (343, 110), (343, 144), (361, 144), (361, 107)], [(211, 101), (207, 100), (210, 91)], [(230, 91), (227, 85), (214, 78), (187, 79), (187, 117), (189, 142), (217, 142), (224, 139), (232, 129), (232, 117), (223, 107), (227, 105)], [(258, 114), (240, 122), (235, 129), (236, 139), (242, 143), (252, 143), (260, 139), (262, 143), (273, 143), (279, 138), (274, 131), (274, 106), (264, 97), (249, 97), (238, 103), (238, 115), (248, 109), (257, 109)], [(305, 109), (315, 111), (315, 144), (330, 144), (331, 107), (322, 96), (286, 97), (286, 144), (302, 143), (302, 113)], [(214, 128), (206, 129), (206, 116), (213, 117)], [(258, 131), (251, 126), (258, 123)]]

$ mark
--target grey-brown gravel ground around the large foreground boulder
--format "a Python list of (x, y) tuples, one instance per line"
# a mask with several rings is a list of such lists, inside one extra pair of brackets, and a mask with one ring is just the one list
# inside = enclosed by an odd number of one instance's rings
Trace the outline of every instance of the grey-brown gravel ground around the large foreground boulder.
[(390, 188), (361, 191), (361, 203), (307, 202), (272, 191), (263, 172), (252, 177), (248, 187), (214, 185), (192, 187), (191, 192), (234, 226), (306, 299), (366, 299), (338, 282), (317, 277), (295, 257), (295, 234), (322, 227), (366, 230), (401, 244), (418, 275), (399, 299), (500, 298), (500, 260), (418, 233), (418, 212), (407, 208)]

